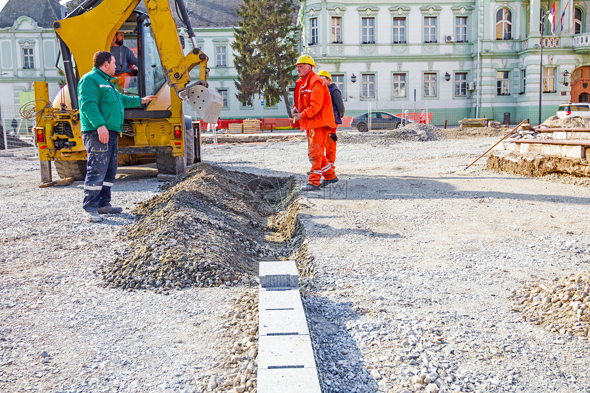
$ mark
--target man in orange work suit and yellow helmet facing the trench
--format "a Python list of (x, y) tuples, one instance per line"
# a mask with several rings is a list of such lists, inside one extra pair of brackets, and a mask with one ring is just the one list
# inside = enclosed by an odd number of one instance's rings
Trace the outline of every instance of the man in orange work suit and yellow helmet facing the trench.
[(334, 112), (328, 85), (313, 71), (316, 62), (309, 55), (297, 59), (299, 79), (295, 84), (293, 121), (307, 132), (307, 156), (311, 162), (308, 183), (301, 191), (320, 189), (322, 176), (325, 182), (336, 179), (333, 166), (326, 159), (326, 139), (335, 132)]

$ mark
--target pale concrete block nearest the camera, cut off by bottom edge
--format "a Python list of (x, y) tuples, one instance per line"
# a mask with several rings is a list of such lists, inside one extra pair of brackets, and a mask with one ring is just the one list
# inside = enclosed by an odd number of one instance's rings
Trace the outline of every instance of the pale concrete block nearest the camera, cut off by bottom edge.
[(259, 393), (320, 393), (316, 368), (258, 369)]

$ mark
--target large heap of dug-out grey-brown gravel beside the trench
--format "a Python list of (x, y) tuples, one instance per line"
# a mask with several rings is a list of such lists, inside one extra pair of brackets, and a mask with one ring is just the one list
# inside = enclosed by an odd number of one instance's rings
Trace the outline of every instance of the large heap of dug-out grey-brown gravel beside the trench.
[(266, 241), (267, 217), (292, 202), (293, 178), (265, 178), (198, 164), (141, 203), (123, 230), (131, 241), (102, 276), (123, 289), (167, 292), (249, 283), (257, 261), (291, 253), (280, 235)]

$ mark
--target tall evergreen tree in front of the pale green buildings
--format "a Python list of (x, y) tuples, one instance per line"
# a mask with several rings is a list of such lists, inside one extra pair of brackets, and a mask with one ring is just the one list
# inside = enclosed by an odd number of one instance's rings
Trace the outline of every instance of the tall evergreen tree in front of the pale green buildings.
[(235, 29), (234, 65), (236, 97), (252, 105), (252, 97), (264, 93), (270, 106), (283, 98), (291, 116), (287, 88), (295, 81), (298, 29), (294, 0), (244, 0), (239, 5)]

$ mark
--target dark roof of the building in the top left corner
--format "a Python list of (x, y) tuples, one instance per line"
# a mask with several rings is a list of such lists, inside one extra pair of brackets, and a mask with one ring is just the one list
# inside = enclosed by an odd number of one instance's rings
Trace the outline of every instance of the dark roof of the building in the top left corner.
[(12, 27), (19, 16), (29, 16), (39, 27), (51, 27), (61, 18), (59, 0), (8, 0), (0, 12), (0, 28)]

